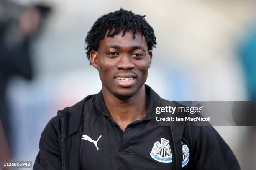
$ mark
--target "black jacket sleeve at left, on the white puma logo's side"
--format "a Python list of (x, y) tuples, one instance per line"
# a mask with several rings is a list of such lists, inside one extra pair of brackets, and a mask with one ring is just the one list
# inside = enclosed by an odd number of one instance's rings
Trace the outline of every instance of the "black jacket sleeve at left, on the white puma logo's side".
[(59, 128), (60, 121), (57, 116), (52, 118), (44, 128), (33, 170), (61, 170)]

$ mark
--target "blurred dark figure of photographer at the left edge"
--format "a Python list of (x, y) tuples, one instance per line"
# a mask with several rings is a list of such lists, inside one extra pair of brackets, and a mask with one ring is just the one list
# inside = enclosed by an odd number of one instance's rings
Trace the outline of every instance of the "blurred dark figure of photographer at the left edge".
[[(47, 5), (21, 6), (8, 0), (0, 0), (0, 122), (3, 126), (0, 138), (6, 139), (9, 148), (12, 145), (12, 127), (6, 101), (8, 80), (14, 75), (32, 79), (32, 37), (38, 35), (50, 12), (51, 8)], [(0, 141), (1, 146), (2, 141), (4, 140)]]

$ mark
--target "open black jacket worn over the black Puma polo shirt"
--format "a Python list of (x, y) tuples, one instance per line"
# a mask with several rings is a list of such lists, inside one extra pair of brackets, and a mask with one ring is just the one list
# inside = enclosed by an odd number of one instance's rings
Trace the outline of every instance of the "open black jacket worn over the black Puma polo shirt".
[[(163, 100), (149, 86), (149, 103)], [(102, 91), (89, 95), (72, 107), (58, 111), (42, 132), (39, 153), (33, 170), (79, 170), (80, 143), (83, 130), (83, 112), (103, 112)], [(149, 104), (152, 107), (152, 105)], [(148, 108), (150, 110), (150, 108)], [(235, 155), (212, 126), (166, 126), (172, 150), (172, 170), (182, 170), (182, 139), (192, 141), (189, 169), (197, 170), (240, 170)], [(185, 137), (184, 137), (185, 136)]]

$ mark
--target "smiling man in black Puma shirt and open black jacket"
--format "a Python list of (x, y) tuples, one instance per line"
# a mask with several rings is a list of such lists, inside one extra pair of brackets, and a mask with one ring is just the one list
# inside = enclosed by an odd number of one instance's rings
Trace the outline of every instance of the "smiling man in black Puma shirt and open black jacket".
[(145, 85), (156, 45), (153, 28), (131, 11), (100, 17), (86, 37), (102, 90), (58, 112), (44, 129), (34, 170), (239, 170), (212, 126), (151, 124)]

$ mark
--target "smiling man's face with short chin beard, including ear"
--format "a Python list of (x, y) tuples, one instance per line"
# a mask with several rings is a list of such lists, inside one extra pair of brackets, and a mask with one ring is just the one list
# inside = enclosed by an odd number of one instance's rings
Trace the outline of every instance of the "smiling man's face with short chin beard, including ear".
[(98, 69), (102, 89), (120, 99), (132, 97), (144, 85), (151, 65), (145, 37), (128, 30), (100, 41), (97, 51), (91, 51), (92, 65)]

